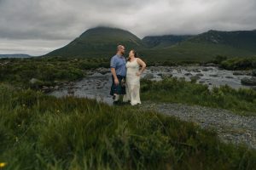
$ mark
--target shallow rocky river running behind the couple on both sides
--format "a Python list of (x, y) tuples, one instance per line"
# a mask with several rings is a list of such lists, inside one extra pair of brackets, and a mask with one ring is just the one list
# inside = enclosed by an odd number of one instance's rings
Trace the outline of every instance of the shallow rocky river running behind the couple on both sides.
[[(160, 81), (163, 77), (184, 78), (186, 81), (195, 79), (196, 82), (207, 84), (209, 88), (229, 85), (231, 88), (255, 88), (241, 84), (242, 79), (252, 78), (252, 71), (227, 71), (217, 66), (150, 66), (142, 75), (154, 81)], [(61, 88), (53, 91), (50, 95), (61, 97), (74, 95), (90, 99), (101, 100), (112, 105), (112, 98), (109, 95), (111, 86), (111, 73), (109, 69), (99, 68), (90, 71), (88, 77), (78, 82), (66, 83)]]

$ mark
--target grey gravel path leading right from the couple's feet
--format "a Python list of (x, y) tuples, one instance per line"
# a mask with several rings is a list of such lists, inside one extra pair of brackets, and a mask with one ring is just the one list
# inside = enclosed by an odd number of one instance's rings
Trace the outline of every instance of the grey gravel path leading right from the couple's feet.
[(144, 102), (142, 107), (195, 122), (203, 128), (212, 128), (224, 142), (244, 143), (256, 149), (256, 116), (238, 116), (231, 111), (199, 105)]

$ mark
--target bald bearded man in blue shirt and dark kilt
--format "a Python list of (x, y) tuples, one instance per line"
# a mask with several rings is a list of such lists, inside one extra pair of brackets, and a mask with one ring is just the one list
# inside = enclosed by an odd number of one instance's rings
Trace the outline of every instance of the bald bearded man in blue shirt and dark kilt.
[(117, 54), (110, 61), (112, 73), (112, 86), (110, 94), (113, 95), (113, 103), (119, 100), (119, 95), (125, 94), (126, 60), (124, 57), (125, 47), (119, 45)]

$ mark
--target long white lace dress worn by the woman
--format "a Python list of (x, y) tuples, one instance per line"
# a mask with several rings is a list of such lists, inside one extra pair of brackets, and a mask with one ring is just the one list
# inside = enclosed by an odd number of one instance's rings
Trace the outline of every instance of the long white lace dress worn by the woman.
[(126, 94), (124, 95), (124, 102), (131, 101), (131, 105), (141, 104), (140, 99), (140, 77), (137, 76), (140, 65), (137, 63), (137, 59), (128, 61), (126, 63)]

